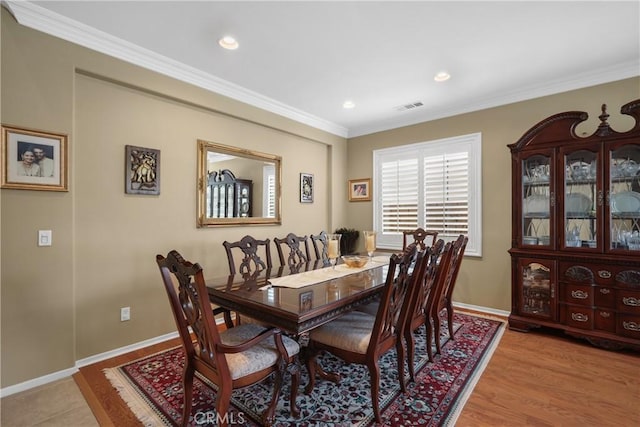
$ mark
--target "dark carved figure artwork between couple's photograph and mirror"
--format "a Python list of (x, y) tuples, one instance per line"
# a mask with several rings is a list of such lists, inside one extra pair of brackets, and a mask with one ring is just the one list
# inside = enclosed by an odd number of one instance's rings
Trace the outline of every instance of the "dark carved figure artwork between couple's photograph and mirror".
[(160, 150), (125, 145), (124, 191), (160, 194)]

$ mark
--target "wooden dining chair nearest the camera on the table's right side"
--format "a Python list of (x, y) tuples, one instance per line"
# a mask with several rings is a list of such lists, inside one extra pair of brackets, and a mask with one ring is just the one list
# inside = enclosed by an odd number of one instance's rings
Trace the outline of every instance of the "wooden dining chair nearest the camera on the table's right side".
[[(376, 316), (352, 311), (311, 330), (307, 347), (309, 372), (307, 394), (313, 391), (316, 374), (334, 382), (340, 381), (339, 375), (325, 373), (318, 364), (318, 355), (322, 351), (328, 351), (346, 363), (357, 363), (368, 368), (373, 411), (376, 421), (381, 422), (378, 402), (380, 392), (378, 361), (388, 350), (396, 348), (400, 386), (405, 392), (404, 348), (400, 338), (402, 329), (400, 326), (404, 320), (403, 310), (406, 310), (407, 296), (411, 293), (415, 279), (419, 276), (419, 266), (423, 265), (423, 254), (424, 252), (417, 250), (416, 245), (410, 245), (403, 254), (391, 256)], [(413, 271), (414, 274), (410, 275), (409, 271)]]

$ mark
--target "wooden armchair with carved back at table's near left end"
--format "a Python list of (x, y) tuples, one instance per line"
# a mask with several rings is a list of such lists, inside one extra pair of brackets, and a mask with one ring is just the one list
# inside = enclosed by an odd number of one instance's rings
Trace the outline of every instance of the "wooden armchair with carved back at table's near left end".
[[(218, 331), (211, 310), (202, 268), (186, 261), (175, 250), (167, 257), (156, 256), (176, 326), (182, 339), (185, 364), (182, 375), (184, 403), (182, 425), (190, 425), (195, 372), (216, 384), (218, 425), (227, 425), (227, 414), (234, 389), (250, 386), (273, 376), (271, 402), (262, 415), (265, 425), (274, 421), (283, 373), (291, 372), (290, 409), (298, 416), (296, 395), (300, 369), (299, 344), (282, 336), (276, 328), (248, 324)], [(174, 285), (173, 279), (177, 283)], [(189, 332), (193, 331), (193, 336)]]

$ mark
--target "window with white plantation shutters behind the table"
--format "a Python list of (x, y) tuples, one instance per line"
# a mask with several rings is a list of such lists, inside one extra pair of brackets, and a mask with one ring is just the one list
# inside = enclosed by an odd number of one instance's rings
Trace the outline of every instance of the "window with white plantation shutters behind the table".
[(374, 228), (381, 248), (402, 248), (402, 231), (422, 227), (445, 241), (469, 237), (465, 255), (482, 255), (480, 133), (373, 153)]

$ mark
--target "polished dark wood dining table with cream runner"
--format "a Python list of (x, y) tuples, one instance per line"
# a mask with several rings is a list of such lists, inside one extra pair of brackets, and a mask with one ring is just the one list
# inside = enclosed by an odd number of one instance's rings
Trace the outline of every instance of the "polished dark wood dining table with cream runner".
[(310, 261), (294, 268), (266, 269), (255, 275), (214, 278), (207, 280), (207, 288), (213, 304), (301, 337), (374, 300), (383, 288), (388, 271), (388, 264), (376, 264), (367, 270), (354, 270), (352, 274), (300, 288), (272, 286), (269, 279), (327, 268), (322, 261)]

